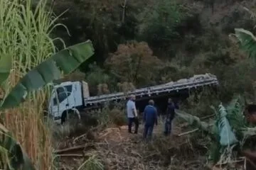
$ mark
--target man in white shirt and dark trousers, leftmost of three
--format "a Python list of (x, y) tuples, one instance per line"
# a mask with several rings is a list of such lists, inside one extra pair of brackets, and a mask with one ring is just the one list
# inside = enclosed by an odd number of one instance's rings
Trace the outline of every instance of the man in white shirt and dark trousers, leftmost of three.
[(135, 106), (135, 96), (131, 95), (129, 97), (129, 101), (127, 102), (127, 118), (128, 118), (128, 132), (132, 133), (132, 123), (135, 124), (135, 130), (134, 133), (138, 133), (139, 129), (139, 119), (137, 115), (137, 110)]

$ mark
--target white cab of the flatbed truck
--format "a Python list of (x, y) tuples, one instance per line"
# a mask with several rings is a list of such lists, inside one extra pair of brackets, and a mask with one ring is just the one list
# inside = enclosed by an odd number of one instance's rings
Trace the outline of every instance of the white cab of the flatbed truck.
[(55, 122), (65, 121), (68, 111), (80, 108), (85, 96), (89, 96), (87, 83), (84, 81), (66, 81), (54, 86), (48, 104), (48, 113)]

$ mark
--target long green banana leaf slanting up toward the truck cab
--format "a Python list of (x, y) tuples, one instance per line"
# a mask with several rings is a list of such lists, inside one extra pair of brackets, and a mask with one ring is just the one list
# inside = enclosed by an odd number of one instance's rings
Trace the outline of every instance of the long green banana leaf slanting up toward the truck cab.
[(35, 91), (53, 80), (60, 79), (61, 71), (63, 74), (73, 72), (93, 54), (94, 49), (90, 40), (55, 53), (21, 78), (14, 89), (4, 98), (0, 108), (6, 109), (18, 106), (25, 100), (29, 92)]

